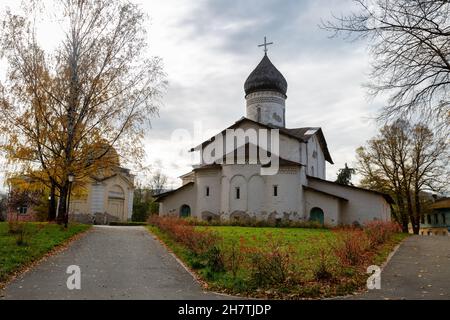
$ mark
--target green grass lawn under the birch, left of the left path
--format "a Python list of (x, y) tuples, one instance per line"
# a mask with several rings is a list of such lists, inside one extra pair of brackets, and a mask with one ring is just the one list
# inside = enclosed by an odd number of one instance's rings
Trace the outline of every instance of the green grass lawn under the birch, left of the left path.
[(73, 224), (64, 230), (54, 224), (26, 223), (24, 227), (24, 243), (18, 245), (18, 235), (9, 233), (8, 223), (0, 223), (0, 284), (90, 226)]

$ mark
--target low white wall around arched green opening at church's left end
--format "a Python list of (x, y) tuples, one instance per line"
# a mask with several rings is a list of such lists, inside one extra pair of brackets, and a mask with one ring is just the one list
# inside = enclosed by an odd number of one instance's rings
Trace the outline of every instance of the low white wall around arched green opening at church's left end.
[(181, 207), (183, 205), (188, 205), (191, 208), (191, 215), (200, 218), (196, 211), (196, 194), (197, 188), (195, 185), (190, 185), (167, 196), (159, 204), (159, 215), (178, 217), (181, 213)]

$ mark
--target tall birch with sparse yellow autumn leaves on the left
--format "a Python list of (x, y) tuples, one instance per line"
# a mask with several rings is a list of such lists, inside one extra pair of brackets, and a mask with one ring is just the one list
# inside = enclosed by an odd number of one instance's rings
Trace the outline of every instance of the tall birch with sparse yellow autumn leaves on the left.
[(146, 124), (165, 82), (160, 60), (146, 58), (146, 16), (138, 5), (53, 1), (48, 9), (58, 13), (64, 37), (46, 53), (35, 33), (36, 3), (3, 21), (0, 52), (9, 69), (0, 97), (2, 149), (33, 179), (58, 189), (61, 220), (69, 174), (85, 183), (118, 165), (115, 150), (142, 159)]

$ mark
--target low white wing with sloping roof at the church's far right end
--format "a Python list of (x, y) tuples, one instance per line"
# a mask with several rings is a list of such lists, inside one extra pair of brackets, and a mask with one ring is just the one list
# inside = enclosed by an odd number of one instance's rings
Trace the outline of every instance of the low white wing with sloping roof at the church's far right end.
[(390, 206), (381, 195), (314, 179), (309, 179), (309, 186), (348, 200), (342, 205), (341, 223), (343, 224), (391, 220)]

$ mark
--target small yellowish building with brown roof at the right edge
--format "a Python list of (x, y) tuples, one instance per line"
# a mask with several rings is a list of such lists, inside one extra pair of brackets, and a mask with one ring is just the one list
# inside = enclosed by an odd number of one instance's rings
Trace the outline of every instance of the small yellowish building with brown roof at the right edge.
[(450, 198), (436, 200), (422, 217), (421, 235), (450, 235)]

